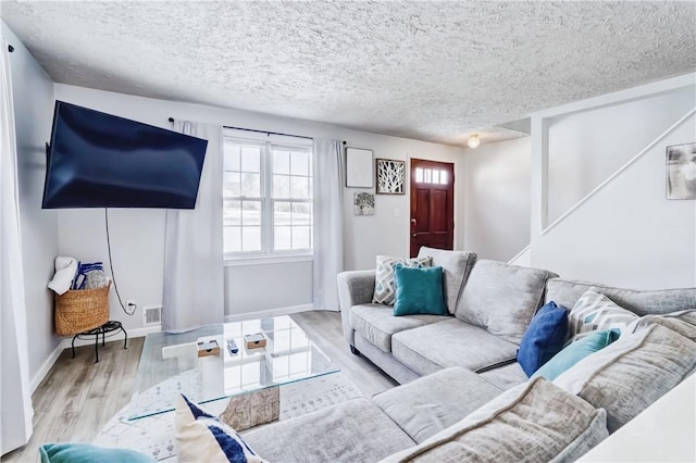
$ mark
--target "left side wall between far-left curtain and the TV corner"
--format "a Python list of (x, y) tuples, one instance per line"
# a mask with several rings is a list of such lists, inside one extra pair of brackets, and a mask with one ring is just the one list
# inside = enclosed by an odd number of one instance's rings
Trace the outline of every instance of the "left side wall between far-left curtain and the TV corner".
[(53, 335), (53, 293), (46, 286), (53, 276), (53, 259), (58, 253), (58, 214), (41, 209), (45, 143), (49, 141), (53, 118), (53, 83), (4, 23), (2, 35), (14, 47), (10, 65), (18, 158), (29, 377), (36, 387), (35, 379), (60, 341)]

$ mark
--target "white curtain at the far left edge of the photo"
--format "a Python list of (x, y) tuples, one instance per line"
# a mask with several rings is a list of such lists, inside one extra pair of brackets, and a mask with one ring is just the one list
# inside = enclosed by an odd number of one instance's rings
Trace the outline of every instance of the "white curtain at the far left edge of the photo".
[(17, 153), (8, 42), (0, 59), (0, 454), (28, 442), (32, 436), (32, 391), (24, 302), (20, 233)]

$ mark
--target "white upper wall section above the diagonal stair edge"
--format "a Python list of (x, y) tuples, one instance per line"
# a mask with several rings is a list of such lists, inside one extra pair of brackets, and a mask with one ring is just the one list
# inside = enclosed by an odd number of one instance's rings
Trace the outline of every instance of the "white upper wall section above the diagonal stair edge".
[(696, 88), (650, 95), (550, 120), (548, 222), (552, 223), (696, 102)]

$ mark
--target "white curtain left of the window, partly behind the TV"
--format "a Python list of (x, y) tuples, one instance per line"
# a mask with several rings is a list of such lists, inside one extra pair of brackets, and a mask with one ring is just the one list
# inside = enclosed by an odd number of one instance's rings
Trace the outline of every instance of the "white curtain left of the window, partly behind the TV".
[(175, 121), (174, 129), (208, 139), (196, 209), (166, 211), (162, 329), (185, 331), (225, 317), (222, 154), (217, 128)]

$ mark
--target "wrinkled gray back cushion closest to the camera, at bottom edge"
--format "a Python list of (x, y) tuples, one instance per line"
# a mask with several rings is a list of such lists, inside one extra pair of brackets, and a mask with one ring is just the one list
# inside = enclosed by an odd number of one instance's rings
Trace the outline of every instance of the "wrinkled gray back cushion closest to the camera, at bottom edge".
[(385, 462), (572, 462), (607, 437), (606, 413), (538, 378)]

